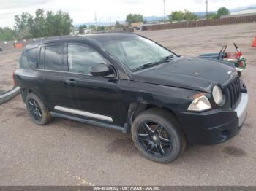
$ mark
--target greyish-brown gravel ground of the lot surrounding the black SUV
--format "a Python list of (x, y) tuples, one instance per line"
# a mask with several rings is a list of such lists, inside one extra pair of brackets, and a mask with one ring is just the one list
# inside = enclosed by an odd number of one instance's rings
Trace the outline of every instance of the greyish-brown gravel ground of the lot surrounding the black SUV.
[(18, 96), (0, 106), (1, 185), (256, 185), (256, 24), (140, 34), (181, 55), (216, 52), (226, 43), (234, 51), (237, 42), (247, 58), (242, 79), (250, 95), (241, 133), (224, 144), (189, 146), (161, 165), (141, 157), (130, 136), (116, 130), (63, 119), (34, 125)]

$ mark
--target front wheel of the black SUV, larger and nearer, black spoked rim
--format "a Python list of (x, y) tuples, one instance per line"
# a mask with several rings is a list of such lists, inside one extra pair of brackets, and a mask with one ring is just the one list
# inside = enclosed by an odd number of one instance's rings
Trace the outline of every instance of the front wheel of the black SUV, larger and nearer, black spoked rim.
[(176, 117), (164, 109), (147, 109), (140, 113), (131, 131), (135, 147), (144, 157), (157, 163), (176, 160), (187, 146)]

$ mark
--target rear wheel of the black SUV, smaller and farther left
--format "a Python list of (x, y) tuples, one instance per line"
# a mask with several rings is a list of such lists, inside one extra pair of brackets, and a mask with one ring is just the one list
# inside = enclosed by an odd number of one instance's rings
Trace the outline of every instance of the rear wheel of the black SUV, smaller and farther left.
[(31, 119), (37, 125), (46, 125), (52, 120), (48, 108), (34, 93), (29, 93), (26, 96), (26, 109), (28, 110)]

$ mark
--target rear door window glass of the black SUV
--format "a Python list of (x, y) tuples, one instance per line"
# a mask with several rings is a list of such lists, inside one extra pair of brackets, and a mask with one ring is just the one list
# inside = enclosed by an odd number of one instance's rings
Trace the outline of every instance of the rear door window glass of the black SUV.
[(63, 45), (52, 45), (45, 47), (45, 69), (46, 70), (56, 70), (63, 71), (63, 56), (62, 52), (64, 50)]

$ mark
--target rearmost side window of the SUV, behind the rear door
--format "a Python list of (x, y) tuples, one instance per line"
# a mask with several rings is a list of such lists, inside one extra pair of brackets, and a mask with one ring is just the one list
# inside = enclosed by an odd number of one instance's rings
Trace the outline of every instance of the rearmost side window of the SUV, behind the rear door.
[(37, 67), (37, 48), (24, 50), (20, 56), (19, 66), (21, 69), (35, 69)]

